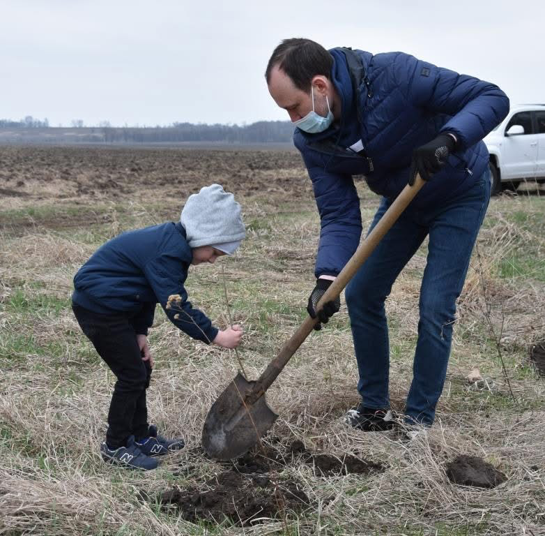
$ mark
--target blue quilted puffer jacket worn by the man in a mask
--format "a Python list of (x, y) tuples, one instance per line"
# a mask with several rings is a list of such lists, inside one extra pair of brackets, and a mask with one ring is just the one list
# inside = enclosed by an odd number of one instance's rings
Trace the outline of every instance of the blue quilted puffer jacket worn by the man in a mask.
[[(296, 128), (293, 134), (321, 217), (316, 277), (339, 274), (358, 247), (362, 223), (353, 175), (365, 175), (372, 191), (394, 199), (408, 182), (413, 150), (439, 133), (453, 133), (456, 152), (412, 203), (422, 210), (437, 206), (481, 177), (489, 163), (481, 140), (509, 111), (507, 96), (489, 82), (401, 52), (353, 52), (364, 69), (357, 88), (343, 50), (330, 50), (332, 82), (342, 103), (340, 124), (323, 133)], [(360, 140), (363, 151), (348, 149)]]

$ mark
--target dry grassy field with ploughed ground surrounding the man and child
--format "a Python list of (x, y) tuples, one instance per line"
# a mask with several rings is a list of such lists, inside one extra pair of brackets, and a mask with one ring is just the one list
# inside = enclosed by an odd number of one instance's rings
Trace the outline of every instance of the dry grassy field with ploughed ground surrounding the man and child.
[[(306, 507), (279, 508), (278, 519), (253, 526), (186, 521), (160, 496), (173, 486), (204, 489), (232, 468), (207, 459), (199, 444), (204, 417), (238, 364), (234, 352), (179, 332), (158, 308), (148, 409), (187, 448), (148, 473), (100, 459), (114, 377), (72, 315), (72, 277), (104, 241), (177, 220), (187, 195), (212, 182), (236, 193), (248, 236), (233, 258), (193, 267), (187, 290), (226, 325), (223, 268), (231, 315), (245, 329), (239, 355), (256, 378), (305, 318), (312, 290), (319, 222), (297, 153), (0, 147), (0, 534), (545, 535), (545, 382), (529, 361), (530, 347), (545, 339), (545, 193), (535, 188), (491, 200), (427, 435), (408, 444), (344, 426), (358, 393), (343, 304), (267, 395), (279, 419), (265, 445), (289, 458), (274, 479), (297, 482)], [(378, 198), (357, 186), (367, 226)], [(400, 411), (426, 253), (424, 244), (387, 300), (390, 394)], [(486, 381), (472, 386), (475, 366)], [(295, 440), (384, 470), (324, 477), (286, 454)], [(507, 481), (452, 484), (445, 466), (459, 454), (481, 457)]]

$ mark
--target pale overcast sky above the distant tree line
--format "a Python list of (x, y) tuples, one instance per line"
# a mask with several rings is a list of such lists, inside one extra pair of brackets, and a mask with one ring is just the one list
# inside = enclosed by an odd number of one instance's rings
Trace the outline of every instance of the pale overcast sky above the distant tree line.
[(545, 1), (0, 0), (0, 119), (51, 126), (287, 120), (284, 38), (401, 51), (545, 103)]

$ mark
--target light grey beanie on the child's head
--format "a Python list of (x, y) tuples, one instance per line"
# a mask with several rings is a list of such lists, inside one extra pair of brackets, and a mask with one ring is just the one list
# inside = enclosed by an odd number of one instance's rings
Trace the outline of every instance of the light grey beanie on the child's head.
[(180, 222), (190, 248), (217, 246), (245, 238), (240, 204), (220, 184), (201, 188), (187, 198)]

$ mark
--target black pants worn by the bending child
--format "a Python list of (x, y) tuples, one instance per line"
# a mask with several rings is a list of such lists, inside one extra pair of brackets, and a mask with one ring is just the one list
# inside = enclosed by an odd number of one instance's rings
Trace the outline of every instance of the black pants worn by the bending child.
[(146, 389), (151, 366), (142, 361), (136, 332), (127, 315), (102, 315), (72, 304), (72, 311), (98, 355), (116, 375), (108, 412), (106, 442), (110, 449), (125, 446), (127, 438), (148, 436)]

